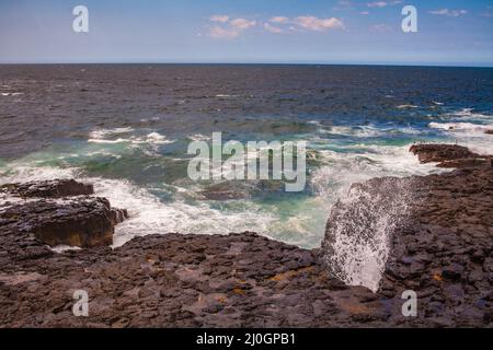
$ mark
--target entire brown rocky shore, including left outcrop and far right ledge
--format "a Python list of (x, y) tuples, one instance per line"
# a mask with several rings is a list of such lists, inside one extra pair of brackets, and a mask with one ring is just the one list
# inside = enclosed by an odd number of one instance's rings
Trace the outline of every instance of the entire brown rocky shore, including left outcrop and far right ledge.
[[(90, 185), (2, 186), (0, 326), (491, 327), (492, 159), (458, 145), (411, 151), (457, 170), (355, 184), (313, 250), (254, 233), (169, 233), (112, 249), (127, 213)], [(341, 237), (377, 253), (381, 279)], [(59, 244), (84, 248), (55, 253)], [(374, 291), (343, 282), (355, 276)], [(89, 317), (72, 314), (74, 290), (88, 292)], [(417, 317), (402, 315), (406, 290)]]

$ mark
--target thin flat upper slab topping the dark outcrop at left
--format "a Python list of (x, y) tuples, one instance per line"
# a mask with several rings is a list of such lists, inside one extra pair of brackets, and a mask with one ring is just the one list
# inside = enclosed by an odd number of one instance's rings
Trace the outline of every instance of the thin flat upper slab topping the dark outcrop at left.
[(0, 186), (0, 192), (1, 191), (22, 198), (61, 198), (93, 195), (94, 188), (92, 185), (81, 184), (73, 179), (55, 179), (24, 184), (8, 184)]

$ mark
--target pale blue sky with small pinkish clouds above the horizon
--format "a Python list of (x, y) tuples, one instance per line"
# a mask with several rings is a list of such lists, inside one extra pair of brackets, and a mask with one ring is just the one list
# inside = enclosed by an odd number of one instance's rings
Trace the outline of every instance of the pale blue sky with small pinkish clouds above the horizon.
[(0, 62), (493, 67), (493, 0), (0, 0)]

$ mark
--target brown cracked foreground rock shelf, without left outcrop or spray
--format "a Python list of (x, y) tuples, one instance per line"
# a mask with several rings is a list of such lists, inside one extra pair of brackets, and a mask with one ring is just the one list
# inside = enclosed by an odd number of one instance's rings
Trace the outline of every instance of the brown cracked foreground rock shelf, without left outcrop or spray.
[[(399, 194), (409, 180), (356, 187)], [(152, 235), (113, 250), (57, 254), (2, 217), (1, 326), (491, 327), (493, 168), (413, 177), (412, 185), (415, 197), (389, 237), (376, 293), (326, 269), (333, 224), (324, 248), (313, 250), (242, 233)], [(371, 237), (371, 230), (362, 232)], [(76, 290), (89, 294), (89, 317), (72, 314)], [(405, 290), (417, 293), (417, 317), (402, 315)]]

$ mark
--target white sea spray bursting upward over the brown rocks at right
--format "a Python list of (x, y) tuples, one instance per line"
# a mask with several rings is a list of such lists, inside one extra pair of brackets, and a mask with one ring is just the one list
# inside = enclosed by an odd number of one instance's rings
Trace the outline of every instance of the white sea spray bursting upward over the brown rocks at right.
[(376, 292), (393, 234), (414, 201), (413, 178), (375, 178), (349, 188), (333, 207), (322, 244), (330, 273)]

